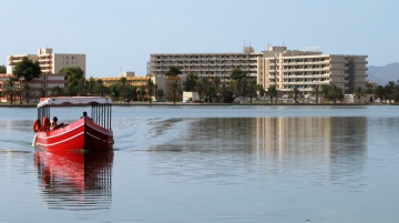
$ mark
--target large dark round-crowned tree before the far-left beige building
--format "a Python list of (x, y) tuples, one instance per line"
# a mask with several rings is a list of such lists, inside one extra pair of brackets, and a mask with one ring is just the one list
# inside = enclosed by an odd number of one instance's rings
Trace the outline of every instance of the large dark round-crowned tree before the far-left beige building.
[(22, 61), (18, 62), (16, 67), (12, 69), (12, 73), (22, 81), (31, 81), (34, 78), (39, 78), (41, 74), (39, 61), (33, 62), (29, 60), (27, 57), (22, 59)]

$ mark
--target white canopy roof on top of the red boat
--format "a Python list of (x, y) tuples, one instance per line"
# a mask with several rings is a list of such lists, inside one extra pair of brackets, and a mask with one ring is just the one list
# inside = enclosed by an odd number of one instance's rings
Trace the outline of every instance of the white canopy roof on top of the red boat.
[(105, 97), (55, 97), (41, 98), (38, 108), (44, 105), (86, 105), (90, 103), (112, 103), (111, 98)]

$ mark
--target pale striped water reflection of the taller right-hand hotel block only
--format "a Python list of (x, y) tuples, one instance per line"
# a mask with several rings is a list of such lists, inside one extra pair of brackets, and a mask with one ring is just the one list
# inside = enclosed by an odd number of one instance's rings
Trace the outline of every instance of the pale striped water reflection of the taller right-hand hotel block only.
[(367, 118), (257, 118), (256, 139), (258, 158), (315, 172), (329, 166), (330, 180), (347, 184), (365, 166)]

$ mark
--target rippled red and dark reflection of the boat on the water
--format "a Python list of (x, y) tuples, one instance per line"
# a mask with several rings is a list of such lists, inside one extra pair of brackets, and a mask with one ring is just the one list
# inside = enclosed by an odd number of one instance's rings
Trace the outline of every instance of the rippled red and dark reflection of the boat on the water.
[(112, 203), (113, 151), (35, 151), (40, 193), (49, 209), (98, 210)]

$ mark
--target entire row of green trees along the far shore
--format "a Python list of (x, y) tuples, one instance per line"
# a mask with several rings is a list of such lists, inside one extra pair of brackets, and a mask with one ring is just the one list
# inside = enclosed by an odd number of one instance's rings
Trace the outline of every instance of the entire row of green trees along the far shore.
[[(0, 73), (6, 73), (6, 68), (0, 67)], [(104, 85), (101, 79), (93, 79), (92, 77), (85, 79), (84, 71), (78, 68), (63, 68), (59, 73), (65, 74), (66, 83), (64, 88), (54, 87), (51, 89), (51, 97), (75, 97), (75, 95), (99, 95), (99, 97), (111, 97), (114, 100), (124, 100), (126, 102), (131, 100), (149, 100), (152, 102), (152, 97), (163, 98), (165, 92), (162, 89), (157, 89), (157, 85), (149, 79), (146, 84), (141, 87), (132, 85), (127, 82), (125, 77), (120, 78), (119, 81), (111, 83), (109, 87)], [(170, 67), (170, 70), (165, 73), (167, 77), (177, 77), (182, 74), (182, 71), (177, 67)], [(23, 100), (29, 103), (30, 95), (35, 94), (40, 97), (47, 97), (48, 92), (45, 88), (40, 88), (35, 92), (32, 92), (29, 84), (33, 79), (38, 79), (41, 75), (39, 62), (33, 62), (28, 58), (23, 58), (22, 61), (18, 62), (14, 68), (12, 75), (1, 85), (3, 97), (13, 100), (20, 99), (20, 103)], [(268, 99), (269, 103), (277, 103), (277, 99), (280, 92), (276, 89), (276, 85), (270, 85), (264, 89), (262, 85), (256, 83), (254, 78), (247, 77), (247, 74), (239, 70), (234, 69), (232, 74), (228, 77), (229, 83), (225, 80), (221, 80), (218, 77), (198, 77), (195, 72), (188, 72), (182, 87), (172, 82), (167, 88), (173, 93), (173, 101), (177, 100), (178, 94), (183, 91), (197, 92), (200, 95), (200, 102), (207, 103), (232, 103), (234, 101), (244, 101), (252, 103), (254, 98), (262, 97)], [(337, 85), (321, 85), (315, 88), (311, 95), (316, 98), (315, 102), (318, 103), (319, 99), (327, 99), (336, 103), (338, 100), (344, 98), (344, 92)], [(381, 100), (392, 100), (396, 103), (399, 102), (399, 80), (397, 82), (390, 81), (386, 85), (374, 87), (370, 83), (366, 84), (366, 89), (357, 88), (354, 94), (360, 100), (365, 94), (375, 94), (376, 98)], [(288, 95), (294, 99), (294, 102), (298, 102), (298, 98), (303, 94), (298, 88), (293, 88)]]

